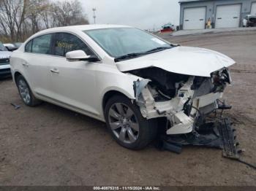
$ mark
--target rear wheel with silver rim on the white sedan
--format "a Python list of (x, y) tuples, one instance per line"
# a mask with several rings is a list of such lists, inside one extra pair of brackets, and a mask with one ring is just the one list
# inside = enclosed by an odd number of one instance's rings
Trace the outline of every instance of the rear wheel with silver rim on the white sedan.
[(17, 77), (16, 85), (18, 87), (20, 98), (24, 104), (27, 106), (37, 106), (38, 104), (42, 103), (42, 101), (34, 97), (29, 84), (26, 82), (26, 79), (22, 75)]

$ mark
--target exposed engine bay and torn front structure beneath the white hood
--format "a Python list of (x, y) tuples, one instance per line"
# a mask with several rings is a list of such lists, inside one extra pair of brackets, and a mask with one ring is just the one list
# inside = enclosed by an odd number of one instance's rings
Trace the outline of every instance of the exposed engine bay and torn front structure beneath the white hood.
[(143, 117), (167, 117), (167, 134), (192, 132), (198, 117), (218, 109), (218, 100), (231, 82), (227, 69), (216, 71), (211, 77), (192, 77), (157, 68), (129, 73), (143, 78), (134, 84)]

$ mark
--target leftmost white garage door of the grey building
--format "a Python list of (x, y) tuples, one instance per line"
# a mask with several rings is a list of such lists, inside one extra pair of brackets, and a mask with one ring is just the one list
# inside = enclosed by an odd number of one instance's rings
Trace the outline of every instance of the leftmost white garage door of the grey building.
[(206, 7), (184, 9), (183, 29), (203, 29), (206, 25)]

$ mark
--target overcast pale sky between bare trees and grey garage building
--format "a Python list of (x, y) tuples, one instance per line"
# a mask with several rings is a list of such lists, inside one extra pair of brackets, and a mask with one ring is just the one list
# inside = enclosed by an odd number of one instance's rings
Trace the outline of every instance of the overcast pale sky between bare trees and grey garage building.
[(80, 0), (90, 23), (96, 7), (96, 23), (122, 24), (142, 29), (161, 28), (179, 23), (178, 0)]

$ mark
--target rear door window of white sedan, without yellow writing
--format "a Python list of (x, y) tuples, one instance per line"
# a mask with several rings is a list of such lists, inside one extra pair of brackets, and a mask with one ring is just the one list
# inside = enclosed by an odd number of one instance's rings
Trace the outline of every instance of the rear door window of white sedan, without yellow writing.
[(52, 34), (45, 34), (33, 39), (31, 52), (50, 55), (50, 39)]

